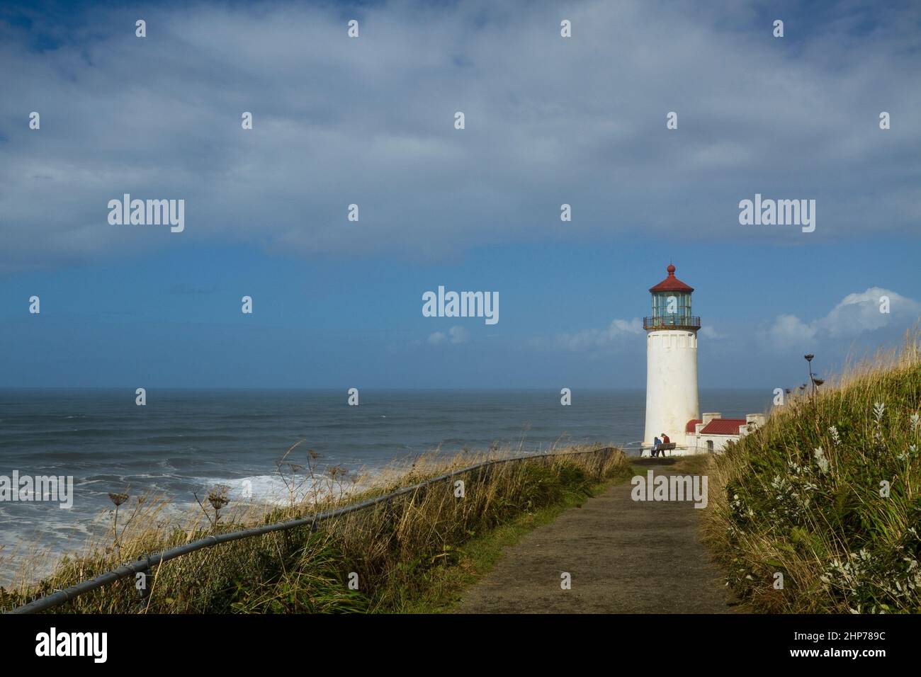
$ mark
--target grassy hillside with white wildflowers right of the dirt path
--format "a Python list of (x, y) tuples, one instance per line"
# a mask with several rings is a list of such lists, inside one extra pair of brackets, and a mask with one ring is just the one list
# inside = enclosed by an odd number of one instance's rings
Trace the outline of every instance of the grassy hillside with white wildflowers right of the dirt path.
[(715, 459), (706, 538), (753, 609), (921, 612), (919, 347), (776, 406)]

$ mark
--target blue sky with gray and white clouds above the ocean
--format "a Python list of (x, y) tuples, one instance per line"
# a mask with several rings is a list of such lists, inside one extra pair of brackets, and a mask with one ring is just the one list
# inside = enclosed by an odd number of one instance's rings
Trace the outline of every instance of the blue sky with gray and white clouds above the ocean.
[[(834, 373), (921, 316), (919, 29), (917, 3), (6, 3), (0, 387), (643, 388), (670, 262), (702, 387)], [(181, 232), (112, 224), (124, 193), (183, 200)], [(756, 193), (815, 229), (740, 224)], [(425, 317), (438, 286), (499, 321)]]

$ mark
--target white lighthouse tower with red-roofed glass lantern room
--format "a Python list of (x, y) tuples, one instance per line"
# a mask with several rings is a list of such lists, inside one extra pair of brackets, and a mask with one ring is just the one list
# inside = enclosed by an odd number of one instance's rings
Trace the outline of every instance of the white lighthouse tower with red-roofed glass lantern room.
[[(694, 288), (669, 276), (649, 289), (652, 315), (643, 319), (646, 330), (646, 432), (643, 446), (662, 433), (679, 446), (685, 444), (689, 422), (698, 419), (697, 330), (700, 318), (691, 314)], [(694, 449), (692, 449), (692, 452)], [(681, 453), (681, 451), (679, 451)]]

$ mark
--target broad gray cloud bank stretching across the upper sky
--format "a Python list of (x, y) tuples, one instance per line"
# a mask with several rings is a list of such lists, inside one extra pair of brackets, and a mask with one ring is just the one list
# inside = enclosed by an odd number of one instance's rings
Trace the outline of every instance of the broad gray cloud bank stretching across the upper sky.
[[(916, 228), (917, 8), (773, 40), (755, 7), (391, 3), (349, 39), (325, 6), (151, 6), (42, 52), (4, 25), (0, 272), (210, 241), (432, 260), (562, 237), (562, 203), (575, 239)], [(122, 193), (184, 198), (186, 231), (110, 226)], [(754, 193), (815, 198), (816, 232), (741, 227)]]

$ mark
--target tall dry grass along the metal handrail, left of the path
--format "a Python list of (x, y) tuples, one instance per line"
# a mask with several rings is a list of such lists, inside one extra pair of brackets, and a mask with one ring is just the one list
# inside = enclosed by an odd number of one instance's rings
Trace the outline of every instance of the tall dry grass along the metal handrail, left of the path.
[[(592, 450), (582, 454), (580, 451)], [(289, 450), (290, 451), (290, 450)], [(499, 463), (438, 482), (424, 490), (394, 498), (374, 508), (347, 513), (309, 526), (222, 543), (158, 566), (141, 600), (134, 579), (118, 581), (59, 607), (56, 613), (324, 613), (399, 611), (426, 590), (437, 567), (458, 561), (465, 542), (517, 516), (552, 506), (573, 494), (589, 495), (593, 486), (626, 477), (629, 465), (619, 449), (596, 446), (560, 449), (549, 458)], [(238, 531), (257, 524), (298, 519), (318, 511), (381, 496), (428, 478), (480, 461), (507, 458), (511, 450), (461, 453), (450, 458), (433, 454), (412, 467), (391, 469), (361, 491), (324, 473), (326, 486), (301, 496), (297, 454), (286, 455), (292, 471), (286, 480), (291, 500), (284, 507), (233, 505), (209, 508), (177, 526), (161, 519), (162, 498), (129, 500), (121, 507), (122, 530), (111, 543), (90, 543), (79, 556), (65, 557), (38, 584), (25, 581), (0, 593), (9, 607), (46, 594), (147, 554), (190, 543), (216, 532)], [(310, 452), (304, 467), (312, 470)], [(309, 474), (309, 473), (308, 473)], [(333, 473), (334, 474), (334, 473)], [(454, 480), (464, 483), (458, 497)], [(309, 486), (317, 486), (311, 483)], [(136, 499), (135, 499), (136, 501)], [(349, 586), (357, 582), (357, 589)]]

